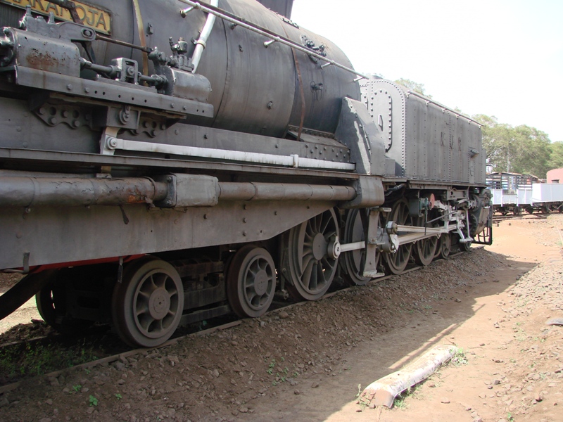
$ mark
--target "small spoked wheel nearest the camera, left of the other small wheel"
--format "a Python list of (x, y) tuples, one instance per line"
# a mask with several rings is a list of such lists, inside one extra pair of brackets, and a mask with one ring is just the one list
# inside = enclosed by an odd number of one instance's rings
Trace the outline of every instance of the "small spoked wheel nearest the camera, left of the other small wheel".
[(184, 310), (184, 288), (172, 265), (153, 257), (132, 262), (115, 283), (112, 319), (132, 346), (154, 347), (176, 330)]

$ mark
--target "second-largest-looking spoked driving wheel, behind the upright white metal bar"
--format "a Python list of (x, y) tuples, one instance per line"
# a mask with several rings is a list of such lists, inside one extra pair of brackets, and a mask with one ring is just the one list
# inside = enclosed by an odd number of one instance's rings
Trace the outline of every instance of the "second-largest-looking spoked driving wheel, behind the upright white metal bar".
[[(346, 223), (344, 225), (344, 243), (355, 243), (365, 240), (364, 232), (364, 225), (362, 224), (360, 210), (350, 210), (346, 215)], [(346, 279), (356, 286), (364, 286), (369, 280), (371, 280), (369, 277), (362, 275), (361, 268), (362, 263), (365, 262), (365, 253), (365, 248), (344, 252), (343, 262)], [(376, 252), (376, 267), (379, 263), (379, 257), (379, 252)]]

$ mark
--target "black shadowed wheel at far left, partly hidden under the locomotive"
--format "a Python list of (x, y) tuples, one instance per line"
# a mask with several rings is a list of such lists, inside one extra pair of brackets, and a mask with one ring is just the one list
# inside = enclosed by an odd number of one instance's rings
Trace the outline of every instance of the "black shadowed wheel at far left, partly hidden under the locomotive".
[(35, 294), (37, 311), (43, 321), (63, 334), (80, 333), (94, 324), (93, 321), (72, 318), (68, 312), (66, 290), (71, 275), (69, 269), (53, 271), (50, 280)]

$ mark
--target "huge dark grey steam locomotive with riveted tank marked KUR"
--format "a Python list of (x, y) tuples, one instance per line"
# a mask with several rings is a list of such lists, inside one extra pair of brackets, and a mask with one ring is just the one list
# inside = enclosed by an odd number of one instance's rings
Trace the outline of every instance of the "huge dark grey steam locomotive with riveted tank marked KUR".
[(0, 1), (2, 318), (151, 347), (492, 241), (479, 124), (262, 3)]

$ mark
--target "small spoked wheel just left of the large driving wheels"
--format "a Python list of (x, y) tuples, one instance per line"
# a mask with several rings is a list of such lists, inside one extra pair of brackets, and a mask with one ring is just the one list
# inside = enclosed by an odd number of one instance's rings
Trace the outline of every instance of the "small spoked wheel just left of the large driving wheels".
[(253, 245), (239, 249), (227, 274), (227, 298), (234, 313), (243, 318), (265, 314), (275, 290), (276, 268), (270, 253)]

